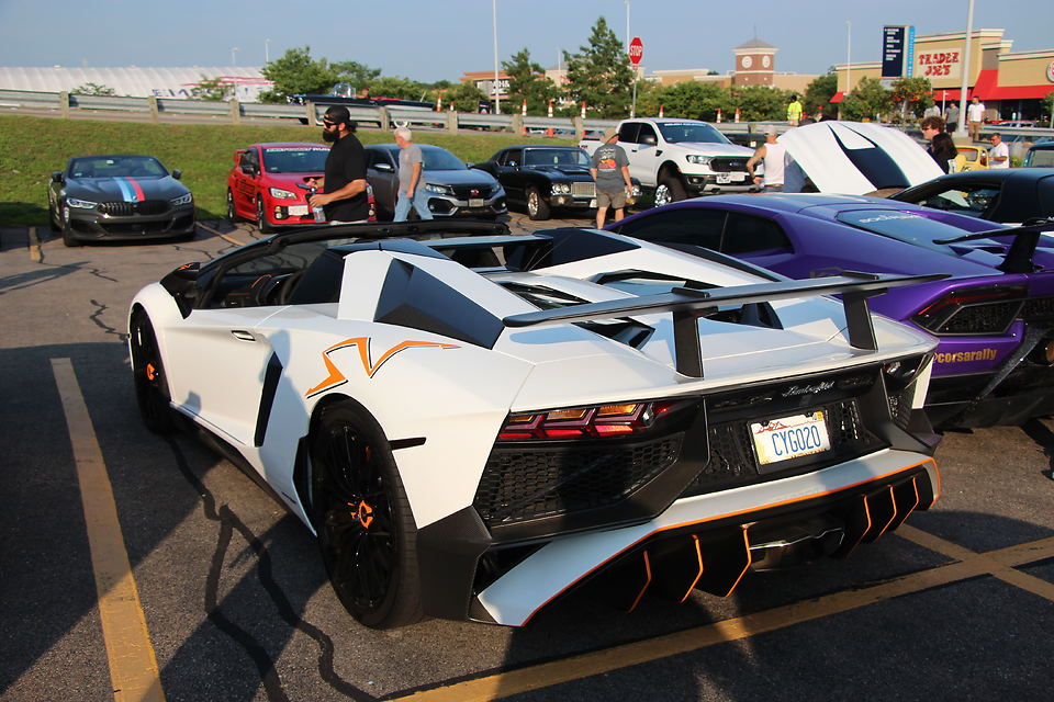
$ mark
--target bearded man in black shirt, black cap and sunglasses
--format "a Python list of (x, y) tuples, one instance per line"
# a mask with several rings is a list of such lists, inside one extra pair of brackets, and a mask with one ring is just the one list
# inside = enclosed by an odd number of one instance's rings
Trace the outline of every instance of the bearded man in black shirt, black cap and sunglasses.
[(325, 178), (316, 180), (321, 193), (311, 196), (311, 206), (324, 206), (329, 224), (366, 222), (370, 204), (366, 194), (366, 152), (355, 136), (351, 114), (343, 105), (326, 110), (322, 137), (332, 141), (326, 157)]

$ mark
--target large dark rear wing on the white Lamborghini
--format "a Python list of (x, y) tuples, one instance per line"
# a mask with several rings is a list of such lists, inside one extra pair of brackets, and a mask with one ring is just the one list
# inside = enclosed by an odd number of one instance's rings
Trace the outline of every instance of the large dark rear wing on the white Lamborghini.
[(534, 327), (567, 321), (610, 319), (632, 315), (673, 313), (674, 354), (677, 373), (703, 377), (703, 351), (699, 342), (698, 318), (706, 317), (726, 305), (772, 302), (816, 295), (842, 295), (849, 343), (856, 349), (878, 349), (875, 328), (867, 307), (867, 298), (885, 293), (890, 287), (915, 285), (949, 278), (931, 275), (877, 275), (843, 271), (841, 275), (804, 281), (781, 281), (754, 285), (736, 285), (711, 290), (677, 287), (670, 293), (647, 295), (602, 303), (586, 303), (557, 309), (512, 315), (502, 320), (505, 327)]

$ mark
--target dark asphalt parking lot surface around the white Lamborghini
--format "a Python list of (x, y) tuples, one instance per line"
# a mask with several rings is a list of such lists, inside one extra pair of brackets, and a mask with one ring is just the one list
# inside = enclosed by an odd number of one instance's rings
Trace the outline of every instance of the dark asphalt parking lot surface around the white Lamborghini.
[(189, 242), (67, 249), (0, 226), (0, 699), (1050, 699), (1050, 419), (949, 432), (932, 510), (731, 598), (625, 613), (578, 595), (520, 630), (358, 625), (295, 519), (138, 419), (133, 294), (257, 236), (205, 223)]

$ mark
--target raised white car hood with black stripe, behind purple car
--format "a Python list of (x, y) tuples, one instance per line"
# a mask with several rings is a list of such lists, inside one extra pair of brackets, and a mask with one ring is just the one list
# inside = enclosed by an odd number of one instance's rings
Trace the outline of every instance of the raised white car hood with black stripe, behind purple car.
[(788, 192), (805, 192), (805, 179), (821, 193), (865, 195), (924, 183), (943, 171), (907, 134), (870, 122), (817, 122), (784, 133), (780, 144), (796, 167)]

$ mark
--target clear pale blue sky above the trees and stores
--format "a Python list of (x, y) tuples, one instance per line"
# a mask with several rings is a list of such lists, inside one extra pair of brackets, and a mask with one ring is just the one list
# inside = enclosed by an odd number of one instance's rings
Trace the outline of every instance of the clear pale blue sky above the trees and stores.
[[(526, 47), (542, 66), (575, 52), (604, 15), (626, 34), (625, 0), (497, 0), (500, 59)], [(821, 73), (845, 60), (878, 60), (884, 24), (919, 34), (962, 31), (967, 0), (630, 0), (630, 35), (647, 70), (732, 68), (731, 49), (756, 36), (780, 48), (780, 71)], [(260, 66), (287, 48), (356, 60), (385, 76), (457, 80), (492, 70), (492, 0), (0, 0), (0, 66)], [(1050, 0), (976, 0), (974, 27), (1003, 29), (1013, 50), (1054, 48)], [(265, 42), (270, 38), (270, 42)]]

